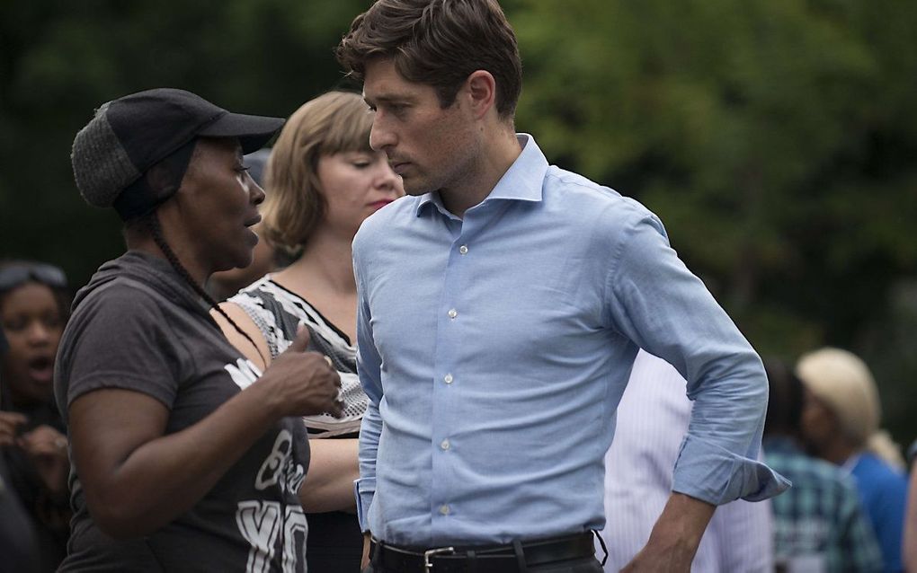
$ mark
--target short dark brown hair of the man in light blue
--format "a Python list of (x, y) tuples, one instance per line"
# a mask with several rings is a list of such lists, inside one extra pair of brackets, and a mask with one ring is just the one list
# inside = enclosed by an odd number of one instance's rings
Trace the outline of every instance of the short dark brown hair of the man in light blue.
[(337, 61), (362, 81), (368, 61), (390, 59), (409, 82), (436, 89), (447, 107), (471, 72), (496, 80), (496, 106), (512, 117), (522, 91), (515, 34), (496, 0), (379, 0), (337, 46)]

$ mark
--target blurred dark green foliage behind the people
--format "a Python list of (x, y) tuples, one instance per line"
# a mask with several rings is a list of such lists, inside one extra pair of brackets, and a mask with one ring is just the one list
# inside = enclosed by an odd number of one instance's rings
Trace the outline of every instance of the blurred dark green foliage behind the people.
[[(332, 50), (366, 0), (0, 6), (0, 256), (76, 284), (122, 249), (72, 183), (94, 107), (169, 85), (287, 116), (348, 85)], [(504, 0), (517, 127), (661, 216), (762, 354), (847, 347), (917, 435), (917, 4)]]

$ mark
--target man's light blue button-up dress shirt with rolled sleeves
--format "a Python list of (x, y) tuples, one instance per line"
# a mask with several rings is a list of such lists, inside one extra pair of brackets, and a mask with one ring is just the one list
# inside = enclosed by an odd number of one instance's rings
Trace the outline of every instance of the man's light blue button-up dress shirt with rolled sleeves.
[(641, 204), (549, 166), (533, 138), (463, 218), (403, 197), (354, 239), (361, 527), (396, 545), (601, 529), (603, 457), (638, 347), (695, 400), (673, 489), (775, 495), (755, 351)]

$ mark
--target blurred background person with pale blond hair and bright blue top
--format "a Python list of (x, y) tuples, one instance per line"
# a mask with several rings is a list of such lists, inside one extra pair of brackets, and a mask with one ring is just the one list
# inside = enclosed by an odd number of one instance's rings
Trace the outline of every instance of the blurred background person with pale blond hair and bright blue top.
[(882, 550), (883, 570), (903, 570), (907, 480), (897, 446), (879, 430), (881, 405), (872, 373), (853, 353), (824, 347), (803, 355), (796, 374), (806, 388), (807, 446), (853, 476)]

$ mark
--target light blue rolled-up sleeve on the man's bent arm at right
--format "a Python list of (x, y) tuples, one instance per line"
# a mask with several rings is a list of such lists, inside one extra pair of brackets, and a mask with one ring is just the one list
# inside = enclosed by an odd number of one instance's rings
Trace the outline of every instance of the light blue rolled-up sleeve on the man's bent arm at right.
[(672, 490), (716, 505), (786, 490), (790, 482), (757, 461), (768, 380), (745, 336), (669, 247), (655, 215), (626, 226), (611, 249), (613, 327), (678, 369), (694, 401)]

